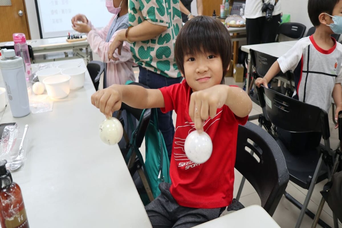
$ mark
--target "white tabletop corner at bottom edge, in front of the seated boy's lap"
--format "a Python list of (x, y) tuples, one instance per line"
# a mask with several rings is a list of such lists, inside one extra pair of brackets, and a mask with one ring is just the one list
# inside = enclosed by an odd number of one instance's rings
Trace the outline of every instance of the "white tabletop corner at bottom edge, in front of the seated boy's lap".
[(195, 226), (198, 228), (279, 228), (280, 226), (259, 205), (252, 205), (209, 222)]

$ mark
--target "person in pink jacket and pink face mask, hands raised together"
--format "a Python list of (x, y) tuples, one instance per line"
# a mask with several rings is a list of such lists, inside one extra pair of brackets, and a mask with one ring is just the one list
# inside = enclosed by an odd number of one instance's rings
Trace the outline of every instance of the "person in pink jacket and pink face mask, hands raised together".
[[(105, 63), (104, 87), (112, 84), (125, 84), (128, 80), (135, 81), (132, 69), (133, 59), (128, 42), (123, 43), (120, 59), (108, 59), (109, 45), (115, 39), (117, 31), (128, 28), (128, 0), (106, 0), (106, 7), (113, 17), (102, 29), (96, 29), (83, 14), (77, 14), (71, 19), (73, 29), (87, 33), (91, 50), (97, 53)], [(118, 56), (117, 52), (114, 55)]]

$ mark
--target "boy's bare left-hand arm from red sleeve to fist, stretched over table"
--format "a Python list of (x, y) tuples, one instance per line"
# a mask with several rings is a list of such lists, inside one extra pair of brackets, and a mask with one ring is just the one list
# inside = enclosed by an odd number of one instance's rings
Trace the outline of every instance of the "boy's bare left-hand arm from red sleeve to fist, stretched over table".
[(162, 108), (164, 98), (158, 89), (145, 89), (139, 85), (111, 85), (91, 96), (91, 103), (106, 117), (121, 108), (121, 102), (133, 108)]

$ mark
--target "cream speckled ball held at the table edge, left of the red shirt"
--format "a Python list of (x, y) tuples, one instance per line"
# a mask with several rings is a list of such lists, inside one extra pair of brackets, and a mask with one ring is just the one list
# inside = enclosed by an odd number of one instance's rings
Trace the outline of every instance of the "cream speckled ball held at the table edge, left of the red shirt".
[(122, 138), (123, 129), (117, 118), (105, 119), (99, 126), (98, 133), (102, 142), (108, 145), (118, 144)]

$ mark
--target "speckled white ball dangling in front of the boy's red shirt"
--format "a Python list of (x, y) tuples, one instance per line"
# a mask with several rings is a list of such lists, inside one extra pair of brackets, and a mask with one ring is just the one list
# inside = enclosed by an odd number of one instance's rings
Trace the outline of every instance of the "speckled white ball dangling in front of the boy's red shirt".
[(213, 144), (206, 132), (193, 131), (185, 139), (184, 150), (190, 161), (201, 164), (210, 158)]

